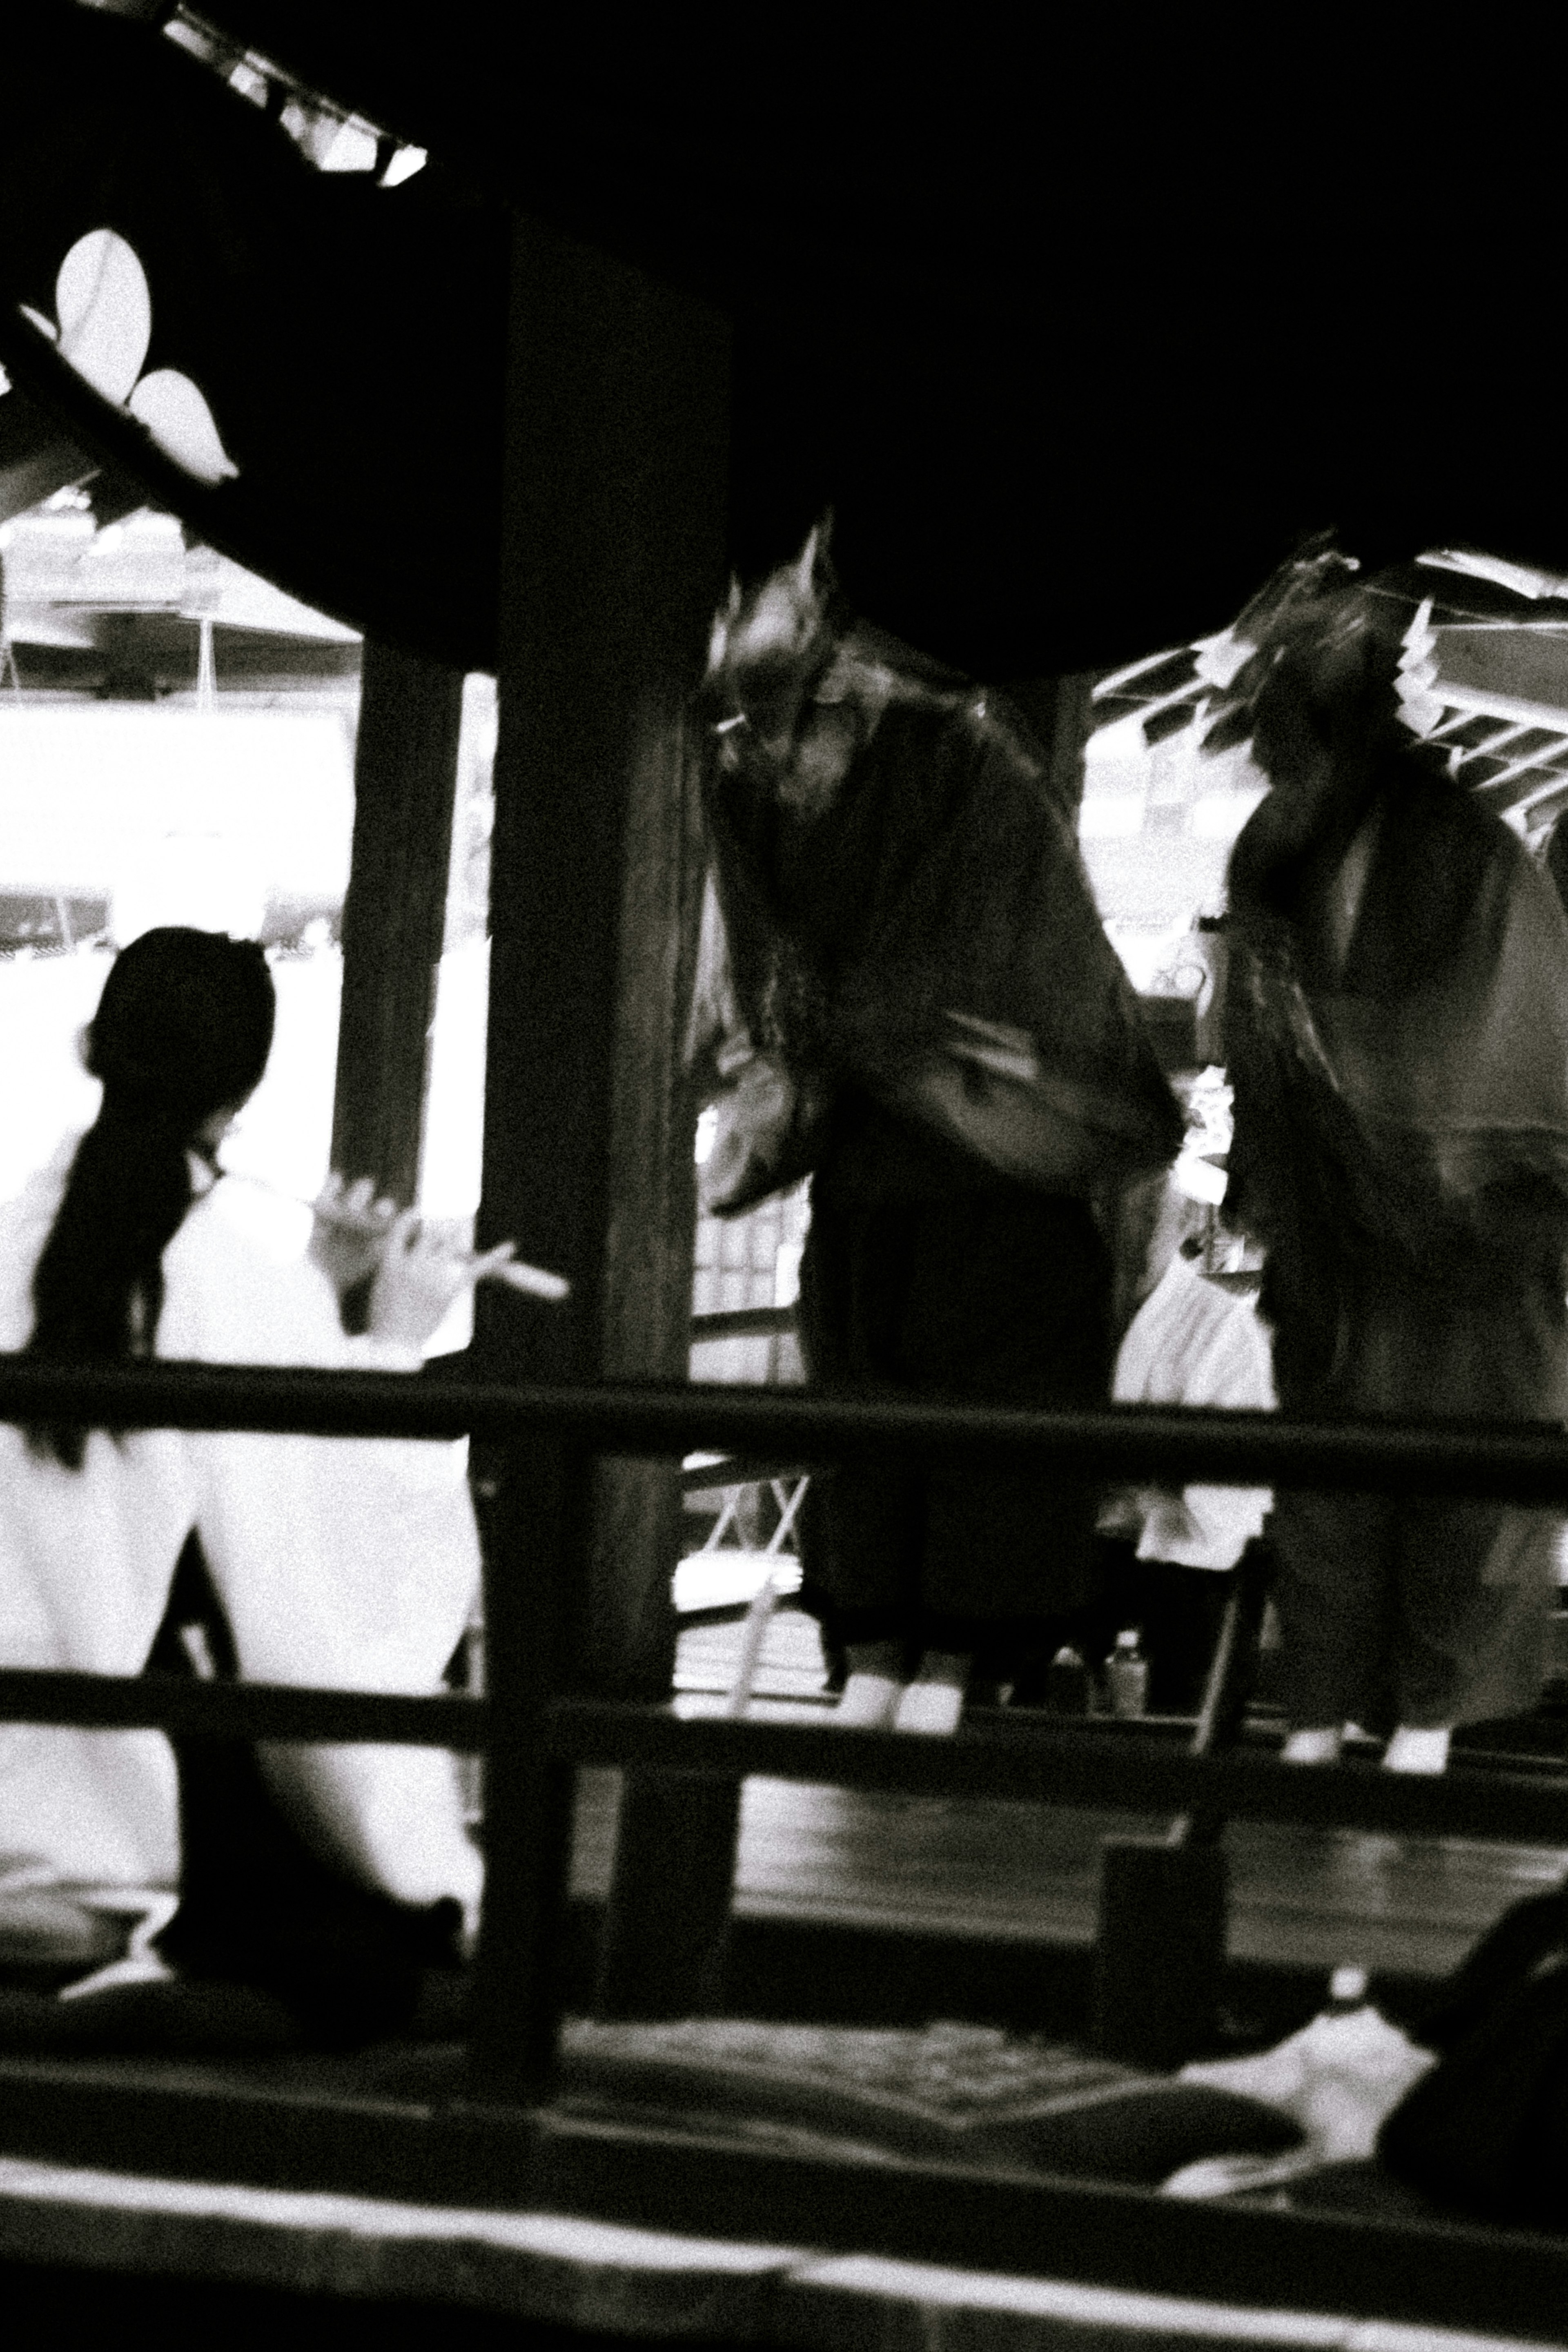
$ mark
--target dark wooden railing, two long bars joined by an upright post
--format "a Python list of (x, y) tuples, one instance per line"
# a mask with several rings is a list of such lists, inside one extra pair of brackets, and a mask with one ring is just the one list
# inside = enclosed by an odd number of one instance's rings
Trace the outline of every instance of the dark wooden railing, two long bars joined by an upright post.
[(1549, 1428), (1314, 1425), (1276, 1414), (1175, 1409), (1030, 1414), (780, 1390), (510, 1388), (200, 1364), (73, 1371), (24, 1357), (0, 1359), (0, 1416), (331, 1437), (473, 1435), (503, 1449), (484, 1700), (0, 1672), (0, 1719), (487, 1750), (489, 1886), (475, 2063), (503, 2096), (536, 2098), (550, 2079), (552, 1947), (569, 1865), (567, 1783), (578, 1764), (642, 1764), (696, 1778), (759, 1771), (1133, 1811), (1220, 1804), (1260, 1820), (1568, 1844), (1568, 1783), (1537, 1776), (1420, 1780), (1356, 1766), (1300, 1773), (1253, 1752), (1154, 1755), (1135, 1740), (1060, 1724), (992, 1724), (954, 1740), (907, 1740), (769, 1722), (679, 1722), (658, 1705), (595, 1700), (576, 1689), (571, 1663), (595, 1454), (679, 1456), (710, 1446), (741, 1461), (792, 1463), (964, 1454), (992, 1463), (1058, 1461), (1079, 1479), (1229, 1479), (1568, 1505), (1568, 1439)]

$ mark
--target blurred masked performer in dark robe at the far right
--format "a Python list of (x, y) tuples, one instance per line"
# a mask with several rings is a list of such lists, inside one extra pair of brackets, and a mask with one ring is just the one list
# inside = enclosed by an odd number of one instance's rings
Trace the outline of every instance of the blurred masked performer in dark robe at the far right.
[[(1251, 736), (1272, 790), (1229, 863), (1229, 1202), (1286, 1411), (1561, 1421), (1568, 924), (1420, 741), (1410, 616), (1324, 550), (1234, 630), (1255, 652), (1208, 743)], [(1272, 1534), (1288, 1759), (1356, 1722), (1441, 1771), (1455, 1724), (1540, 1698), (1549, 1515), (1281, 1494)]]

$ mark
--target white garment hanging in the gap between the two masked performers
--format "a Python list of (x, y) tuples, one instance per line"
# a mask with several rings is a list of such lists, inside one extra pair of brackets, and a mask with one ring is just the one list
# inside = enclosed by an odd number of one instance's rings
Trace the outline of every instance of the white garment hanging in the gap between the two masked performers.
[[(1143, 1301), (1117, 1355), (1117, 1404), (1220, 1404), (1274, 1411), (1269, 1336), (1251, 1298), (1206, 1282), (1180, 1251)], [(1234, 1569), (1260, 1534), (1267, 1486), (1187, 1486), (1180, 1496), (1143, 1486), (1100, 1512), (1105, 1534), (1138, 1526), (1140, 1559), (1182, 1569)]]

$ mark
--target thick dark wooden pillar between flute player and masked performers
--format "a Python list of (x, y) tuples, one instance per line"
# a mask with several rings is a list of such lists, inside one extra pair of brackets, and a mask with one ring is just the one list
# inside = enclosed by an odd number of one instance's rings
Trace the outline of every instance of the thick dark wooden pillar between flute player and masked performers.
[[(512, 1237), (569, 1277), (571, 1301), (541, 1308), (491, 1284), (475, 1329), (487, 1378), (686, 1374), (696, 1218), (679, 1042), (703, 856), (684, 708), (724, 583), (726, 430), (726, 325), (520, 221), (480, 1242)], [(675, 1465), (592, 1475), (564, 1458), (557, 1472), (548, 1510), (515, 1491), (520, 1468), (501, 1479), (489, 1689), (508, 1710), (517, 1693), (524, 1712), (548, 1703), (520, 1604), (524, 1585), (548, 1585), (552, 1639), (571, 1653), (555, 1689), (663, 1698)], [(487, 1785), (473, 2042), (487, 2096), (543, 2082), (567, 1849), (541, 1823), (559, 1825), (559, 1809), (557, 1766), (520, 1717)]]

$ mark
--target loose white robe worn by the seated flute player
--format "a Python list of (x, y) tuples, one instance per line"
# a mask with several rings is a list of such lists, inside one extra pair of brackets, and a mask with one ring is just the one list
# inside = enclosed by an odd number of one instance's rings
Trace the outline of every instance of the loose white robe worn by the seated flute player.
[[(31, 1282), (78, 1138), (0, 1207), (0, 1348), (33, 1329)], [(207, 1364), (402, 1369), (418, 1355), (348, 1338), (303, 1235), (268, 1235), (256, 1195), (214, 1185), (165, 1249), (158, 1355)], [(87, 1437), (80, 1470), (0, 1425), (0, 1658), (136, 1675), (174, 1566), (197, 1531), (240, 1672), (428, 1693), (470, 1616), (480, 1545), (465, 1446), (414, 1439), (136, 1430)], [(473, 1912), (482, 1863), (454, 1759), (430, 1748), (261, 1750), (310, 1842), (407, 1903)], [(0, 1867), (169, 1884), (179, 1875), (174, 1755), (158, 1731), (0, 1726)]]

